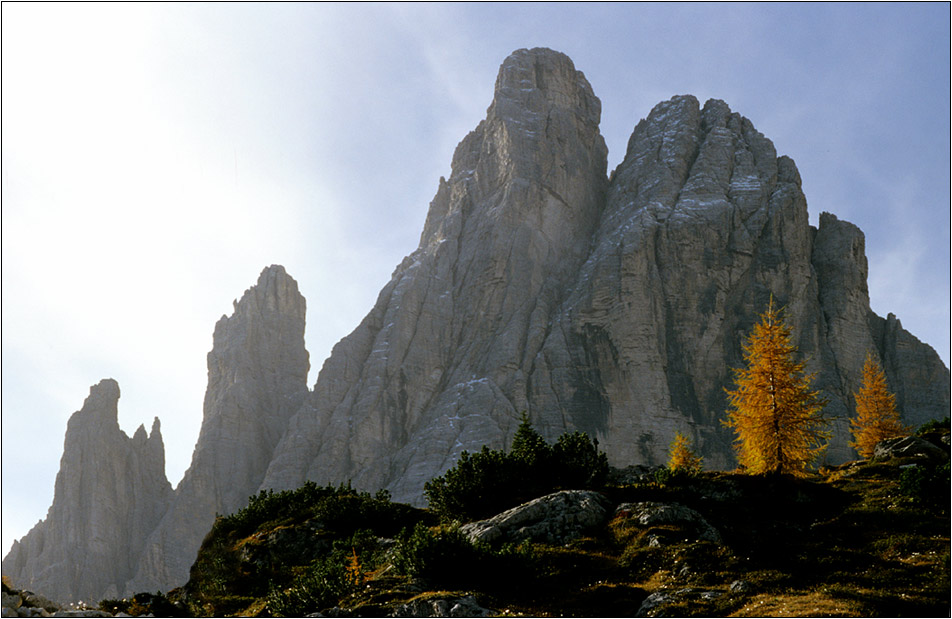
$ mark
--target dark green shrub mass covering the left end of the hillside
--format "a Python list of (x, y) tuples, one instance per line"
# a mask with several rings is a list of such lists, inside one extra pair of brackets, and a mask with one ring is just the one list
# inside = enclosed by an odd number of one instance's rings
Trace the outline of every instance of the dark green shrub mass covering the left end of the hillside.
[(234, 613), (244, 611), (236, 606), (243, 596), (270, 595), (280, 612), (295, 614), (294, 608), (340, 593), (332, 576), (354, 553), (361, 566), (376, 564), (378, 536), (395, 537), (429, 517), (391, 503), (386, 493), (350, 485), (308, 482), (297, 490), (261, 492), (215, 521), (192, 565), (189, 603), (199, 614)]

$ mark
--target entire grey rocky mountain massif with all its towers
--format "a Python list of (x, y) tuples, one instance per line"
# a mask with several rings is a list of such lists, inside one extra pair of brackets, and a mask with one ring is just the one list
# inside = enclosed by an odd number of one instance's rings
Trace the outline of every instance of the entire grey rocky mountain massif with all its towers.
[[(609, 175), (600, 114), (568, 57), (514, 52), (419, 247), (313, 389), (304, 299), (269, 267), (216, 326), (201, 434), (174, 493), (152, 474), (157, 426), (125, 438), (153, 454), (141, 481), (133, 467), (116, 483), (76, 473), (132, 458), (122, 440), (95, 443), (96, 415), (80, 411), (50, 514), (4, 574), (62, 600), (167, 590), (187, 580), (215, 514), (249, 495), (351, 481), (420, 504), (464, 450), (507, 446), (523, 411), (548, 440), (587, 432), (617, 467), (663, 463), (680, 431), (709, 467), (731, 468), (724, 387), (771, 296), (829, 399), (828, 461), (853, 456), (867, 351), (906, 423), (948, 414), (948, 368), (870, 309), (863, 233), (829, 213), (811, 226), (796, 165), (749, 120), (673, 97)], [(97, 533), (104, 514), (129, 535)]]

